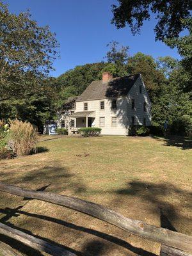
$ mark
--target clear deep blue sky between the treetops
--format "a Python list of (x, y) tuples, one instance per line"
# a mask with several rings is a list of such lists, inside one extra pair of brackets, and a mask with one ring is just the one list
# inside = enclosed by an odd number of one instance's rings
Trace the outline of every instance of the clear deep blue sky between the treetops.
[(144, 22), (141, 35), (131, 35), (129, 28), (116, 29), (110, 23), (111, 4), (116, 0), (4, 0), (10, 12), (30, 10), (32, 19), (40, 26), (49, 25), (60, 42), (60, 59), (54, 61), (52, 76), (59, 76), (76, 65), (99, 62), (108, 50), (106, 45), (115, 40), (129, 45), (129, 54), (138, 51), (154, 58), (179, 58), (175, 49), (155, 42), (156, 20)]

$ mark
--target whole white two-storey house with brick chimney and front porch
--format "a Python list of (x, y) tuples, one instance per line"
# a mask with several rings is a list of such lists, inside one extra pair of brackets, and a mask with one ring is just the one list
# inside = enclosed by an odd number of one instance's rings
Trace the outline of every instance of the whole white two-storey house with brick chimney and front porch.
[(93, 81), (76, 99), (70, 132), (100, 127), (101, 134), (127, 135), (130, 125), (150, 125), (151, 104), (141, 74), (113, 78), (109, 72)]

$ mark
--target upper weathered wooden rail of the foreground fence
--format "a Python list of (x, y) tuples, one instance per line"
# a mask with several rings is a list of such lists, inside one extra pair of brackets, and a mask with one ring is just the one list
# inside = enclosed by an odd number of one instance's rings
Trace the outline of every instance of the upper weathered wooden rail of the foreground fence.
[[(22, 189), (18, 186), (4, 184), (3, 182), (0, 182), (0, 191), (65, 206), (67, 208), (93, 216), (94, 218), (97, 218), (99, 220), (106, 221), (112, 225), (115, 225), (116, 227), (122, 228), (123, 230), (131, 234), (163, 244), (161, 248), (161, 255), (188, 256), (191, 255), (190, 253), (192, 253), (191, 236), (186, 236), (179, 232), (173, 232), (166, 228), (148, 225), (144, 221), (125, 218), (121, 214), (118, 214), (117, 212), (112, 211), (99, 204), (94, 204), (92, 202), (81, 200), (79, 198), (74, 198), (72, 196), (57, 195), (55, 193)], [(0, 228), (0, 233), (1, 232), (2, 230)], [(38, 250), (42, 250), (42, 248), (39, 248)]]

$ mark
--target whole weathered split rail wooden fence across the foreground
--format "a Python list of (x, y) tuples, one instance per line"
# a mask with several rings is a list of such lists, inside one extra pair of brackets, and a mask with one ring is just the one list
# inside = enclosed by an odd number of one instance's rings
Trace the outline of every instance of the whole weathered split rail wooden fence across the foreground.
[[(185, 234), (174, 232), (166, 228), (148, 225), (144, 221), (125, 218), (121, 214), (112, 211), (102, 205), (94, 204), (92, 202), (81, 200), (72, 196), (23, 189), (18, 186), (4, 184), (3, 182), (0, 182), (0, 191), (61, 205), (75, 211), (83, 212), (84, 214), (88, 214), (99, 220), (106, 221), (112, 225), (115, 225), (116, 227), (122, 228), (131, 234), (160, 243), (161, 256), (192, 256), (191, 236), (186, 236)], [(0, 234), (12, 237), (13, 239), (20, 241), (21, 243), (26, 244), (35, 250), (46, 252), (53, 256), (76, 255), (76, 253), (72, 253), (69, 250), (60, 248), (60, 246), (47, 243), (42, 239), (38, 239), (24, 232), (21, 232), (20, 230), (9, 227), (8, 225), (1, 223), (1, 220)], [(8, 244), (0, 242), (0, 255), (1, 254), (3, 256), (21, 255), (19, 252), (16, 252), (14, 249), (12, 249), (12, 247), (10, 247)]]

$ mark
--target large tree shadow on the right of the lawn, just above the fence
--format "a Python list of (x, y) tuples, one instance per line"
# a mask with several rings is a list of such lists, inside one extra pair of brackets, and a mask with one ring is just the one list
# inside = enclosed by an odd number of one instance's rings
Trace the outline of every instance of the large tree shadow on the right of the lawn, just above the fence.
[[(153, 213), (160, 215), (161, 227), (168, 228), (173, 231), (177, 231), (172, 225), (172, 221), (177, 221), (181, 218), (178, 207), (186, 206), (184, 202), (190, 200), (192, 193), (178, 189), (173, 184), (153, 184), (150, 182), (133, 181), (128, 182), (126, 188), (118, 189), (115, 193), (119, 195), (130, 195), (142, 198), (145, 202), (152, 203)], [(163, 200), (163, 198), (166, 200)], [(179, 204), (172, 204), (172, 200), (168, 200), (168, 197), (172, 196), (174, 200), (179, 199)], [(183, 216), (182, 216), (183, 218)], [(185, 218), (188, 220), (188, 218)]]

